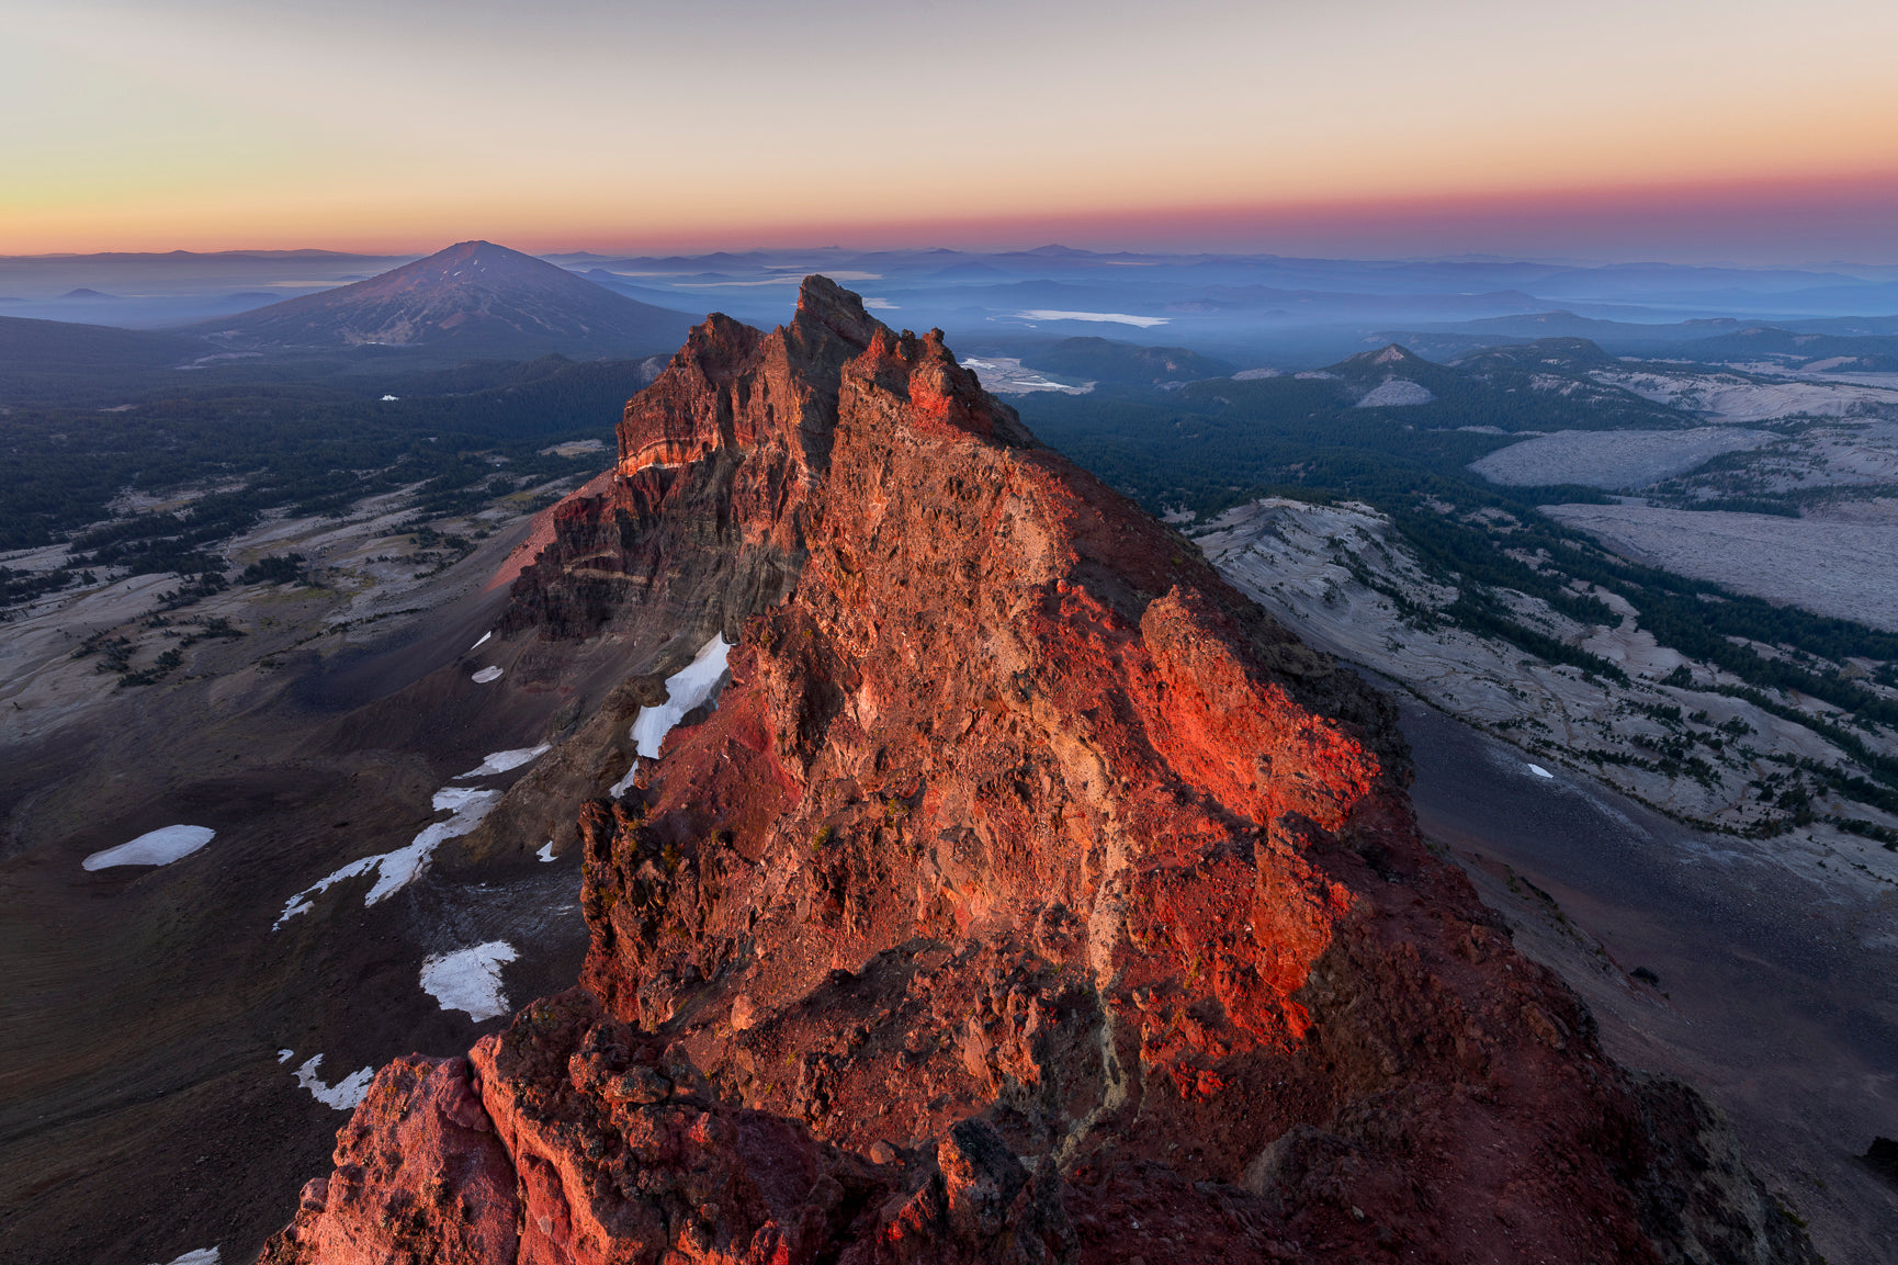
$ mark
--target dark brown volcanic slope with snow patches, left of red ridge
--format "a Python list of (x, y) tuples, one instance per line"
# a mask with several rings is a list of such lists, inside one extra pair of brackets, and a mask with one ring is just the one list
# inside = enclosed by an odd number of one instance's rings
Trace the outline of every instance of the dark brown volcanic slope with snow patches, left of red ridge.
[[(216, 682), (188, 682), (6, 748), (0, 1261), (150, 1265), (209, 1246), (252, 1259), (347, 1119), (298, 1086), (298, 1066), (323, 1054), (334, 1085), (410, 1050), (461, 1052), (505, 1022), (444, 1012), (419, 988), (427, 953), (512, 942), (501, 978), (516, 1003), (571, 984), (586, 948), (575, 857), (437, 868), (374, 908), (370, 879), (347, 879), (271, 931), (298, 889), (408, 843), (437, 817), (433, 792), (486, 752), (598, 705), (469, 680), (516, 653), (505, 638), (463, 653), (503, 600), (476, 589), (368, 648), (306, 653), (235, 712), (205, 703)], [(80, 868), (173, 822), (218, 834), (169, 866)]]

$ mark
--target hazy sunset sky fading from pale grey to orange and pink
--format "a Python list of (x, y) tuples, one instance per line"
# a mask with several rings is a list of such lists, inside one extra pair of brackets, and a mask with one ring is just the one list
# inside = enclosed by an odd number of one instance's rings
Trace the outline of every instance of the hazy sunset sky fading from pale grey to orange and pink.
[(1890, 0), (0, 0), (0, 255), (1898, 262)]

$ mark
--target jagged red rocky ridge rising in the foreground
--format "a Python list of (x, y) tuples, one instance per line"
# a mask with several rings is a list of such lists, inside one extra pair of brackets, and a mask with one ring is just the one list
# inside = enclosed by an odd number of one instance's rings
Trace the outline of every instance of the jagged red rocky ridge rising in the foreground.
[(1389, 705), (940, 334), (708, 321), (514, 619), (706, 587), (731, 684), (581, 815), (581, 988), (471, 1054), (518, 1246), (355, 1159), (463, 1138), (385, 1069), (270, 1259), (1813, 1259), (1420, 845)]

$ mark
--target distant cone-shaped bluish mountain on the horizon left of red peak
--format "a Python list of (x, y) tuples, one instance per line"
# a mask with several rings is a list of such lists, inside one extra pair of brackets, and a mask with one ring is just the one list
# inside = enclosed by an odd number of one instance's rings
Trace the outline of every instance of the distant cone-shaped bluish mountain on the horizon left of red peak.
[(414, 264), (199, 327), (239, 348), (334, 351), (442, 348), (461, 355), (643, 355), (693, 317), (615, 294), (492, 241), (463, 241)]

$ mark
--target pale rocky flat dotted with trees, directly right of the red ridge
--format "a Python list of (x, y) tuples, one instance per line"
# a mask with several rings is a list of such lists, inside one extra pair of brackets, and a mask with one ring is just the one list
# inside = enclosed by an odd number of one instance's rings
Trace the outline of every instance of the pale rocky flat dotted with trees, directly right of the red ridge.
[[(1594, 596), (1608, 606), (1613, 625), (1583, 627), (1520, 593), (1498, 596), (1515, 619), (1613, 663), (1628, 674), (1628, 684), (1543, 663), (1465, 629), (1406, 617), (1393, 595), (1410, 608), (1441, 610), (1456, 600), (1458, 589), (1425, 574), (1391, 522), (1367, 505), (1262, 500), (1220, 515), (1196, 539), (1226, 579), (1310, 646), (1372, 669), (1517, 745), (1518, 777), (1600, 781), (1680, 819), (1748, 830), (1775, 813), (1750, 788), (1754, 779), (1788, 762), (1849, 760), (1811, 727), (1744, 699), (1661, 684), (1685, 661), (1640, 625), (1634, 604), (1604, 589)], [(1691, 670), (1703, 686), (1742, 684), (1708, 665)], [(1663, 724), (1644, 708), (1678, 708), (1674, 714), (1691, 722)], [(1695, 752), (1704, 760), (1704, 781), (1691, 771), (1668, 775), (1653, 762), (1655, 745), (1687, 729), (1699, 733)], [(1721, 739), (1721, 746), (1708, 739)], [(1898, 754), (1898, 741), (1889, 735), (1866, 733), (1864, 741)], [(1826, 800), (1822, 811), (1898, 828), (1898, 817), (1858, 802)], [(1824, 822), (1780, 834), (1767, 851), (1788, 870), (1854, 897), (1883, 900), (1898, 887), (1898, 853)]]

